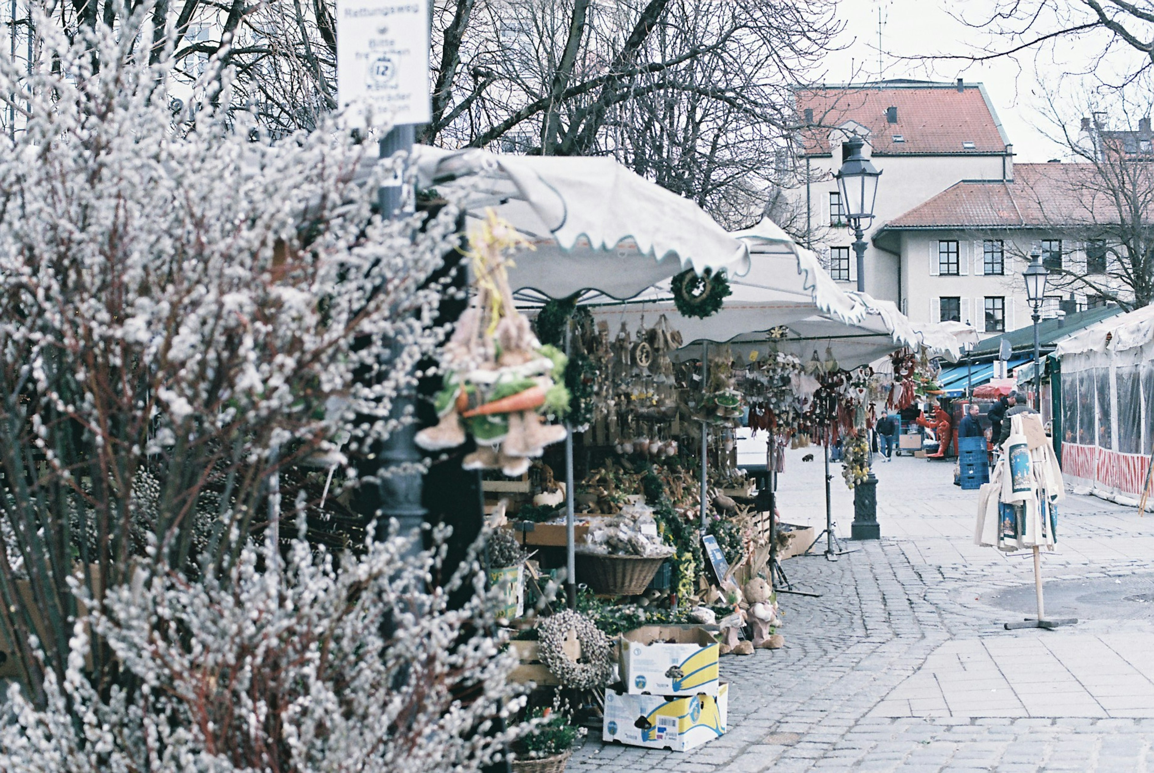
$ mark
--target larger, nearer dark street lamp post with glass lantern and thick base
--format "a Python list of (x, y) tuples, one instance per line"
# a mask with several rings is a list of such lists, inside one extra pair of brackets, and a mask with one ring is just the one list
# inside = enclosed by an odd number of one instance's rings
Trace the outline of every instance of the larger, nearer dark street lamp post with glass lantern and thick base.
[[(846, 220), (854, 230), (854, 253), (857, 254), (857, 292), (865, 292), (865, 228), (874, 219), (877, 179), (882, 173), (862, 156), (864, 141), (854, 135), (846, 140), (848, 156), (838, 170), (838, 192)], [(869, 453), (867, 452), (867, 459)], [(854, 523), (849, 535), (855, 540), (877, 540), (882, 528), (877, 523), (877, 478), (872, 468), (865, 480), (854, 487)]]

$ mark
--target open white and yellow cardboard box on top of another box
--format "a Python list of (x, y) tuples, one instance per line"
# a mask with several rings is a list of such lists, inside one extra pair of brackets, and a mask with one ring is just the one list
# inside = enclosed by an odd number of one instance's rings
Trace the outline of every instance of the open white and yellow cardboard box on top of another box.
[(718, 650), (697, 625), (643, 625), (621, 637), (621, 680), (629, 695), (715, 696)]

